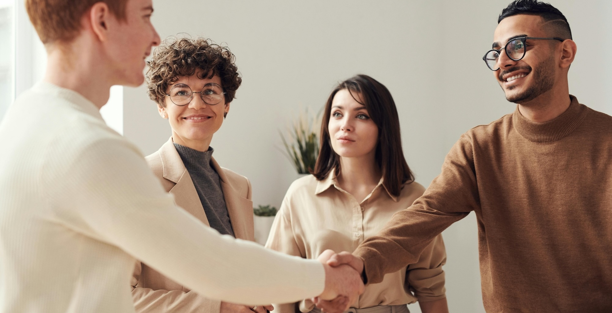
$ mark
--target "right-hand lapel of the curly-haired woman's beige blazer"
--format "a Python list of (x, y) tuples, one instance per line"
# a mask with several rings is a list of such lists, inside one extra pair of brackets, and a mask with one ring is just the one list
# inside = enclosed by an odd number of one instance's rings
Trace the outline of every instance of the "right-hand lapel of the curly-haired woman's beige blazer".
[(221, 189), (225, 198), (225, 205), (230, 215), (231, 227), (236, 238), (255, 241), (253, 236), (253, 201), (242, 197), (225, 175), (223, 168), (217, 164), (215, 158), (211, 159), (212, 167), (219, 174)]

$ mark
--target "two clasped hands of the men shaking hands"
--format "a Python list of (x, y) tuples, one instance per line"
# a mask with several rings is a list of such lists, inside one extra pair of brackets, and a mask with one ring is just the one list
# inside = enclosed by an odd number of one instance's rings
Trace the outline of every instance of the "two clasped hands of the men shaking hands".
[(346, 311), (364, 293), (364, 262), (349, 252), (337, 254), (329, 249), (317, 259), (325, 267), (325, 289), (312, 299), (313, 303), (325, 313)]

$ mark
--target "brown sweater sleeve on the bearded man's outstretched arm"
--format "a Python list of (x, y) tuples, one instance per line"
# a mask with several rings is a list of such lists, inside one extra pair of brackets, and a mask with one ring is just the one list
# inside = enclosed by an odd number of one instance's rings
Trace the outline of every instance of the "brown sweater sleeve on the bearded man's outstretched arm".
[(471, 139), (463, 134), (453, 145), (442, 172), (423, 196), (395, 213), (378, 235), (354, 252), (364, 260), (368, 284), (383, 281), (384, 274), (416, 263), (420, 254), (442, 230), (480, 205)]

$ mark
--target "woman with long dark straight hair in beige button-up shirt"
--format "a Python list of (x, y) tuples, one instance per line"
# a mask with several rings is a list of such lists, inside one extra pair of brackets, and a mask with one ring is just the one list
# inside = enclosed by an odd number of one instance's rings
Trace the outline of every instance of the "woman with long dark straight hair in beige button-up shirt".
[[(354, 76), (329, 96), (313, 175), (289, 187), (266, 246), (308, 259), (326, 249), (354, 251), (424, 191), (404, 158), (389, 90), (370, 76)], [(406, 313), (406, 304), (419, 301), (424, 313), (448, 312), (445, 262), (438, 236), (419, 262), (368, 285), (351, 307), (357, 313)], [(310, 300), (275, 307), (277, 313), (318, 312)]]

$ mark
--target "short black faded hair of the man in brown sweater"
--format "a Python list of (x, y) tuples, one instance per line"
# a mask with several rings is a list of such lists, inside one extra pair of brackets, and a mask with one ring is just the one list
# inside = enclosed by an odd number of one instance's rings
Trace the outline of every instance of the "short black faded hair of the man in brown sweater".
[(515, 0), (512, 1), (506, 9), (501, 11), (498, 18), (498, 24), (507, 17), (514, 15), (526, 14), (526, 15), (537, 15), (542, 17), (544, 22), (547, 24), (547, 28), (552, 33), (553, 37), (559, 37), (561, 39), (572, 39), (572, 29), (570, 24), (567, 23), (565, 15), (559, 11), (556, 7), (551, 6), (550, 3), (537, 1), (537, 0)]

